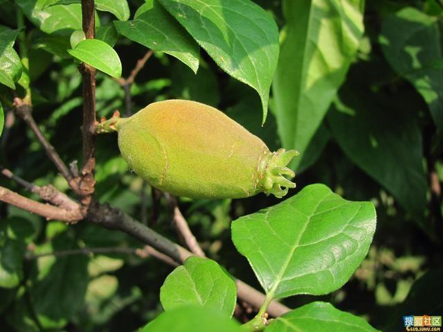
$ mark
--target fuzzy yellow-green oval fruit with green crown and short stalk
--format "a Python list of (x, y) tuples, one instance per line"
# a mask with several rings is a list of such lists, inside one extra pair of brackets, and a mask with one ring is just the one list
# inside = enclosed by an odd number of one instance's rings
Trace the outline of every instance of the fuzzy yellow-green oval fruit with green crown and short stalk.
[(115, 114), (97, 132), (118, 132), (123, 158), (152, 186), (190, 198), (278, 198), (296, 184), (287, 164), (296, 150), (266, 144), (214, 107), (160, 101), (129, 118)]

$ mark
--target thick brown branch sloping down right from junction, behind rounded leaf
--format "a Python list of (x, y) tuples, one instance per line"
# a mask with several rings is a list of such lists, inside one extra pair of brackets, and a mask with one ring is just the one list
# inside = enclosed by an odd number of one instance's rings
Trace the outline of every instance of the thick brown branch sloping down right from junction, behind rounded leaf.
[[(94, 202), (91, 204), (87, 219), (103, 227), (109, 229), (119, 229), (125, 233), (138, 238), (138, 240), (151, 245), (154, 249), (163, 252), (170, 258), (179, 263), (183, 263), (189, 256), (193, 256), (192, 252), (185, 248), (173, 243), (168, 238), (156, 233), (149, 227), (143, 225), (141, 222), (137, 222), (127, 214), (118, 209), (114, 209), (107, 204), (98, 204)], [(264, 302), (264, 294), (255, 290), (251, 286), (248, 286), (243, 281), (237, 279), (235, 281), (237, 285), (237, 294), (239, 299), (242, 299), (255, 308), (260, 308)], [(287, 306), (280, 304), (276, 301), (271, 302), (269, 306), (269, 315), (277, 317), (283, 313), (290, 311)]]

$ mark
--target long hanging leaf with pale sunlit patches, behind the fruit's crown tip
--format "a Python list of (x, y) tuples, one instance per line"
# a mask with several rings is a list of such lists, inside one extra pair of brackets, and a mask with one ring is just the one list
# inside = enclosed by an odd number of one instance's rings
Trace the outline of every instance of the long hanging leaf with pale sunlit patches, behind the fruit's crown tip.
[(301, 153), (297, 169), (359, 47), (363, 0), (285, 0), (283, 10), (273, 110), (282, 145)]

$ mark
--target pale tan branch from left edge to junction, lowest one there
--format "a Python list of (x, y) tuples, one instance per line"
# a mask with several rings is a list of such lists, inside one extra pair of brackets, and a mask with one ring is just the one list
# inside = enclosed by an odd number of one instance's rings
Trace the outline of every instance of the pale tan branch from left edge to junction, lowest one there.
[(61, 207), (55, 207), (51, 204), (35, 202), (35, 200), (30, 200), (2, 186), (0, 186), (0, 201), (14, 205), (19, 209), (38, 214), (47, 220), (75, 222), (83, 218), (82, 215), (76, 211), (62, 209)]

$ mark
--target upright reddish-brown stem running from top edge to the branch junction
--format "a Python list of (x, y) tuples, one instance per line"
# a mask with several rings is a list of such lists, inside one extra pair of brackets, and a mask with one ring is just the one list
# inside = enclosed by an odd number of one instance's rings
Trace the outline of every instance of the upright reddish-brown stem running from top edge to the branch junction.
[[(93, 0), (82, 0), (82, 26), (87, 39), (95, 36), (96, 21)], [(86, 211), (91, 203), (96, 181), (94, 170), (96, 168), (96, 69), (89, 64), (80, 64), (83, 87), (83, 164), (81, 178), (78, 184), (82, 197), (82, 206)]]

